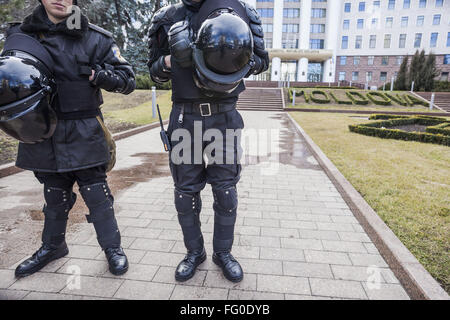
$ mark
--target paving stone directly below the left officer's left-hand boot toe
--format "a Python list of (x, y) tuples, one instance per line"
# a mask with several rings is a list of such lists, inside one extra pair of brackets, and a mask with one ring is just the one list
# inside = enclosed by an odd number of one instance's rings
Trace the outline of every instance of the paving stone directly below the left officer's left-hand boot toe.
[(31, 276), (17, 280), (9, 289), (59, 292), (66, 286), (68, 280), (70, 280), (69, 275), (37, 272)]

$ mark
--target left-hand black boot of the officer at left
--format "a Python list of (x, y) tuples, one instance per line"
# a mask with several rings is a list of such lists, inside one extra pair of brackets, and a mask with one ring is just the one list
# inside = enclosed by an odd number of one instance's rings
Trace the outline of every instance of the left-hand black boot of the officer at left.
[(26, 277), (41, 270), (53, 260), (62, 258), (69, 253), (66, 242), (62, 242), (59, 246), (51, 246), (43, 244), (30, 258), (23, 261), (16, 268), (15, 275), (17, 278)]

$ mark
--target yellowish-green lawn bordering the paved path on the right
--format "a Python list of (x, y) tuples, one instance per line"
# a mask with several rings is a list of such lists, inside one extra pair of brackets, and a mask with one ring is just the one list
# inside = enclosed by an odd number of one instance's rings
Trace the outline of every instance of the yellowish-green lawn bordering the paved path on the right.
[(358, 115), (291, 115), (450, 292), (450, 148), (351, 133)]

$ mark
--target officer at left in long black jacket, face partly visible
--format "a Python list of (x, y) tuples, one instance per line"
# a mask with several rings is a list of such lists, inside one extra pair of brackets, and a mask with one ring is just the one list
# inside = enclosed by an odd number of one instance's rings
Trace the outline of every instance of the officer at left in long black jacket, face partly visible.
[(100, 89), (123, 94), (135, 89), (133, 69), (120, 55), (111, 33), (90, 24), (84, 15), (77, 16), (76, 10), (74, 16), (67, 13), (76, 0), (39, 2), (22, 23), (9, 28), (6, 43), (19, 48), (19, 52), (26, 51), (20, 48), (21, 41), (10, 42), (19, 39), (17, 34), (28, 35), (50, 55), (57, 87), (51, 104), (58, 123), (51, 138), (19, 144), (16, 165), (34, 172), (44, 185), (46, 204), (42, 247), (22, 262), (15, 274), (30, 275), (68, 254), (65, 232), (69, 211), (76, 201), (72, 191), (75, 182), (89, 208), (87, 220), (95, 227), (109, 270), (123, 274), (128, 270), (128, 261), (121, 248), (114, 198), (106, 182), (111, 154), (99, 107), (103, 103)]

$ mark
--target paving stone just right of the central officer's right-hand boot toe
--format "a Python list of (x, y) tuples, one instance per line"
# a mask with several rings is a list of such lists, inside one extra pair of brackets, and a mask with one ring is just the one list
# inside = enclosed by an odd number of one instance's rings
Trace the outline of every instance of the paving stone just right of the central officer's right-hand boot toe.
[(307, 278), (258, 274), (258, 291), (311, 294)]

